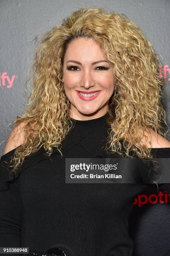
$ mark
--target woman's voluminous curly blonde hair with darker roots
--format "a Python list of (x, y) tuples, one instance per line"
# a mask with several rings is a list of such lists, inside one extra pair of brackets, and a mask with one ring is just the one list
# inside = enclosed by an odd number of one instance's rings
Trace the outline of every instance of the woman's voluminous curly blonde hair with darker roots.
[[(124, 14), (80, 8), (59, 26), (41, 34), (30, 72), (30, 107), (13, 121), (16, 125), (25, 124), (25, 142), (16, 148), (10, 161), (12, 172), (17, 174), (25, 157), (42, 146), (49, 156), (52, 147), (62, 155), (61, 143), (74, 125), (64, 91), (63, 59), (69, 43), (81, 37), (95, 39), (113, 64), (115, 90), (107, 110), (111, 129), (106, 151), (131, 157), (132, 150), (140, 158), (152, 158), (150, 148), (143, 145), (141, 138), (148, 128), (166, 138), (168, 131), (161, 124), (167, 125), (166, 114), (160, 102), (165, 81), (159, 74), (158, 54), (140, 28)], [(26, 88), (30, 79), (25, 82)]]

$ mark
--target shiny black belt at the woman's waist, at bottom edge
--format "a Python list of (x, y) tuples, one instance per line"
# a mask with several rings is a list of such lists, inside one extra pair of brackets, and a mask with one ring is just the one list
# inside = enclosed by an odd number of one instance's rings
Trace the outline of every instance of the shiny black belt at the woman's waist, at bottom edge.
[(27, 255), (30, 256), (67, 256), (60, 248), (50, 248), (46, 253), (42, 251), (31, 250)]

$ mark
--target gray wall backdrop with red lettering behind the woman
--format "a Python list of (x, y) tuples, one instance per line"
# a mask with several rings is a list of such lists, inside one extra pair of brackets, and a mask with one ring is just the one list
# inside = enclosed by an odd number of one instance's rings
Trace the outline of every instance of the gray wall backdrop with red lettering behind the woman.
[[(10, 127), (6, 130), (6, 126), (17, 115), (25, 112), (23, 104), (28, 94), (25, 96), (24, 82), (35, 50), (33, 38), (37, 33), (60, 24), (63, 18), (77, 8), (89, 7), (89, 5), (127, 15), (130, 20), (140, 26), (153, 44), (153, 49), (161, 55), (163, 67), (168, 65), (164, 74), (168, 84), (165, 88), (164, 107), (167, 123), (170, 125), (169, 0), (0, 0), (0, 76), (7, 72), (6, 75), (14, 79), (9, 87), (7, 79), (2, 84), (0, 77), (0, 142), (7, 140), (11, 131)], [(168, 136), (169, 134), (170, 132)], [(4, 148), (5, 143), (2, 143), (0, 156)], [(170, 206), (157, 203), (145, 211), (140, 209), (140, 213), (138, 215), (136, 213), (138, 221), (135, 228), (138, 231), (134, 238), (135, 256), (164, 255), (168, 251)], [(160, 216), (164, 216), (166, 221), (163, 221)]]

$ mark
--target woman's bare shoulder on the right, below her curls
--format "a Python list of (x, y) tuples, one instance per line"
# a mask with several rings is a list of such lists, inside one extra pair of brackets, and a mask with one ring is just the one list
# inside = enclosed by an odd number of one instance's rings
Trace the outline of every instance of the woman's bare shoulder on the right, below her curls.
[[(146, 144), (149, 148), (170, 148), (170, 141), (152, 129), (148, 128), (144, 134), (148, 136), (148, 141)], [(146, 142), (144, 138), (142, 141)]]

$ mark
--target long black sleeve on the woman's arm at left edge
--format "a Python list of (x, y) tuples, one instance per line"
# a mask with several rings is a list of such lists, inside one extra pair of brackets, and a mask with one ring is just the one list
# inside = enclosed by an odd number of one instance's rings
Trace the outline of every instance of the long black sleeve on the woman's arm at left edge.
[(0, 247), (20, 246), (22, 203), (15, 179), (9, 177), (6, 165), (13, 153), (14, 150), (9, 151), (0, 159)]

